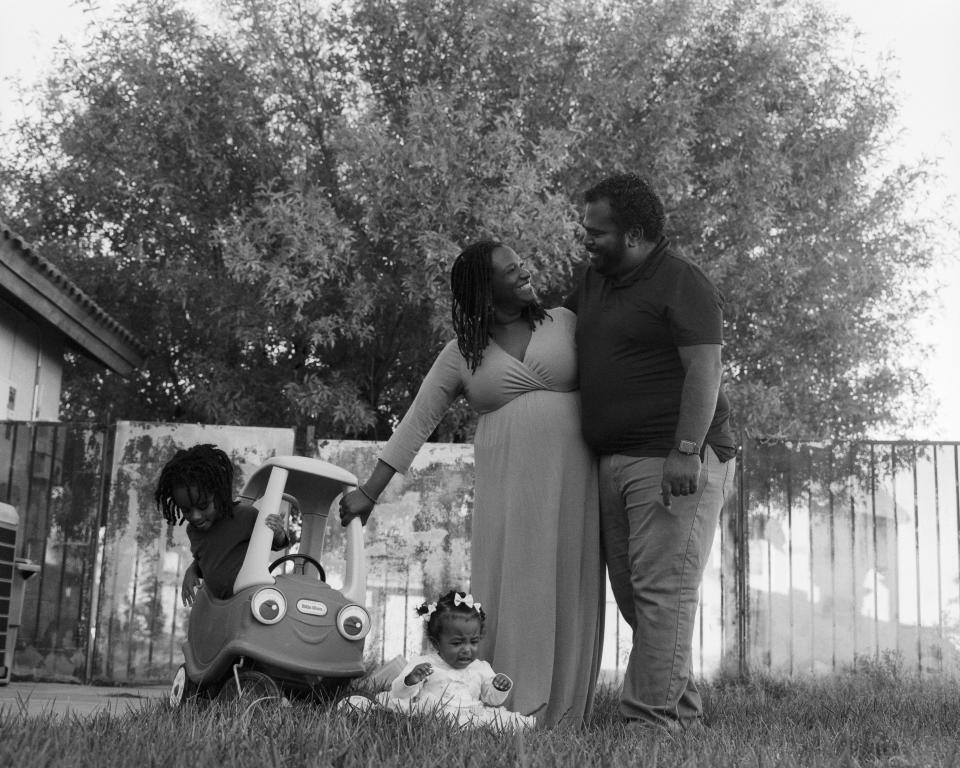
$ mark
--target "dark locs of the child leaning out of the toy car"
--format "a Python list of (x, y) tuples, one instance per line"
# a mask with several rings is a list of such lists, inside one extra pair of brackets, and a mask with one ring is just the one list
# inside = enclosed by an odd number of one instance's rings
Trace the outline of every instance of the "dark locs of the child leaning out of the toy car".
[(173, 499), (174, 489), (181, 487), (187, 489), (192, 504), (202, 507), (212, 497), (220, 517), (233, 516), (233, 463), (215, 445), (181, 448), (160, 471), (153, 498), (170, 525), (184, 521), (183, 510)]

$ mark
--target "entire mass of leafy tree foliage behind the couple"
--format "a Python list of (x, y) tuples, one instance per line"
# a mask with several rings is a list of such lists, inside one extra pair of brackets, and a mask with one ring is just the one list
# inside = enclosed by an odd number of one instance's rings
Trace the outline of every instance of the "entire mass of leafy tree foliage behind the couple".
[(928, 169), (878, 173), (896, 105), (849, 34), (803, 0), (230, 0), (215, 30), (131, 5), (0, 169), (152, 349), (129, 383), (78, 362), (66, 415), (384, 437), (450, 337), (459, 248), (509, 242), (556, 302), (582, 190), (631, 169), (724, 293), (740, 427), (907, 423)]

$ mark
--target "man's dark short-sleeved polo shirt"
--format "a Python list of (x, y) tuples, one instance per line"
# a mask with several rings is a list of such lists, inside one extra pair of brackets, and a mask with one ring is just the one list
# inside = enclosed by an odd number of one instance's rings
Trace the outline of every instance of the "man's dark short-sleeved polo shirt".
[[(590, 267), (564, 302), (577, 313), (583, 435), (598, 453), (666, 456), (685, 378), (677, 347), (723, 343), (719, 291), (661, 238), (635, 269), (608, 279)], [(721, 461), (735, 441), (721, 388), (706, 442)]]

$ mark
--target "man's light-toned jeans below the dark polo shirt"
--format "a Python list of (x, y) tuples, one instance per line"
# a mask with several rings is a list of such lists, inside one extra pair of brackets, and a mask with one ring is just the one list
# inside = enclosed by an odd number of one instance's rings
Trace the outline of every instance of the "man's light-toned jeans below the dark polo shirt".
[(613, 594), (633, 630), (620, 711), (672, 729), (703, 714), (691, 665), (694, 619), (736, 464), (721, 464), (707, 446), (697, 492), (673, 496), (668, 509), (663, 462), (601, 456), (600, 530)]

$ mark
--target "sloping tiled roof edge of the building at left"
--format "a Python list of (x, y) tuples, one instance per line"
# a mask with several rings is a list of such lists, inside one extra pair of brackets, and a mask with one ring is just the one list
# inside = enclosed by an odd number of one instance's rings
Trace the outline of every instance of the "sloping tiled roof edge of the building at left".
[(143, 365), (143, 344), (3, 221), (0, 299), (54, 326), (75, 349), (122, 376)]

